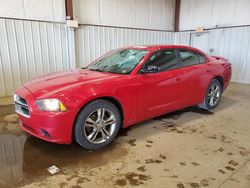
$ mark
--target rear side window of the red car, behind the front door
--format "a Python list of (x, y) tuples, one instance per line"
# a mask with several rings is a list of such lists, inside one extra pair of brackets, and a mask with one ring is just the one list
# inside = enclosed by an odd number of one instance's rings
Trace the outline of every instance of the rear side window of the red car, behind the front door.
[(183, 66), (197, 65), (200, 63), (198, 54), (193, 51), (180, 50), (179, 53)]

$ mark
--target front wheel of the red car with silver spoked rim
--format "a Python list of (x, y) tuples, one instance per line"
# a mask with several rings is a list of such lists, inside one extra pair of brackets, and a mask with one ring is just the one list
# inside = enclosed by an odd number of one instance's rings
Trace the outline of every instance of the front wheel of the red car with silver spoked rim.
[(74, 137), (84, 149), (94, 151), (112, 143), (120, 127), (118, 108), (107, 100), (98, 99), (80, 111), (74, 126)]

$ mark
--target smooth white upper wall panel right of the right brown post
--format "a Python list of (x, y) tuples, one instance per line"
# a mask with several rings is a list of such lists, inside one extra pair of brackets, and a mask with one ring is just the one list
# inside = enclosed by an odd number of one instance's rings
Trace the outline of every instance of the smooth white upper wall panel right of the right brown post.
[(180, 30), (250, 25), (249, 0), (181, 1)]

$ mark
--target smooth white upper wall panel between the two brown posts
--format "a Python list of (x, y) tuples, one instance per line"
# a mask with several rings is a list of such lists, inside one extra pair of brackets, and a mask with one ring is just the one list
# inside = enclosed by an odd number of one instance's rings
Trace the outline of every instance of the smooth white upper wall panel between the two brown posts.
[(174, 0), (74, 0), (80, 24), (173, 30)]

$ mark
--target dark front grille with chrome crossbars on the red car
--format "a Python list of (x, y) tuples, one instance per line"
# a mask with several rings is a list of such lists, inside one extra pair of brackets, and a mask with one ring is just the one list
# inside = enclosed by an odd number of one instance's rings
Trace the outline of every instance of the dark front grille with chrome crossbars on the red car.
[(24, 117), (30, 118), (30, 111), (29, 111), (28, 103), (26, 102), (26, 100), (17, 95), (14, 96), (14, 100), (15, 100), (16, 113)]

